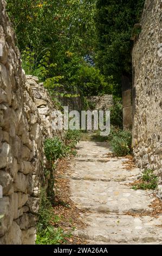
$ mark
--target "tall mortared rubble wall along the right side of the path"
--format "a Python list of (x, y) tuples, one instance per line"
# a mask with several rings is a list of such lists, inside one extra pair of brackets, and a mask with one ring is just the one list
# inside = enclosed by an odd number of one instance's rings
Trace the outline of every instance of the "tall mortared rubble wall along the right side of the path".
[(141, 19), (141, 33), (134, 42), (132, 52), (134, 158), (138, 167), (156, 170), (160, 177), (162, 176), (162, 57), (158, 45), (162, 43), (161, 18), (161, 0), (146, 0)]

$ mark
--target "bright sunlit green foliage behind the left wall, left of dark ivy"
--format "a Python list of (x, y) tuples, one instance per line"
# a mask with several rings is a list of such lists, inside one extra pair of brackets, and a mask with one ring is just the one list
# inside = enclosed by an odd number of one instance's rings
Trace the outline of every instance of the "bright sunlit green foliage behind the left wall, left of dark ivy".
[[(53, 100), (112, 93), (94, 66), (96, 0), (7, 0), (23, 69), (46, 81)], [(59, 79), (59, 81), (57, 81)]]

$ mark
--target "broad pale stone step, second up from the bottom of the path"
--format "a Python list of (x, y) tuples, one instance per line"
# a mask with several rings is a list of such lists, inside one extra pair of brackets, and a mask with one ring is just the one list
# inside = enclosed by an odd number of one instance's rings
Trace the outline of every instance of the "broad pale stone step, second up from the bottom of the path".
[(150, 212), (154, 200), (147, 191), (132, 190), (122, 182), (70, 180), (70, 187), (77, 208), (90, 212)]

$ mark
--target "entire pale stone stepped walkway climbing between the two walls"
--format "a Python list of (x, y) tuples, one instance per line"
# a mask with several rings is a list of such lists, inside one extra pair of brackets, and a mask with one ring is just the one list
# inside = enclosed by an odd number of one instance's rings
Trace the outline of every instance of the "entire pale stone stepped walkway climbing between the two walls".
[[(147, 215), (154, 197), (150, 191), (131, 189), (127, 184), (136, 180), (139, 169), (127, 170), (125, 158), (108, 156), (105, 142), (80, 142), (78, 156), (69, 171), (71, 199), (86, 228), (75, 233), (89, 244), (162, 243), (162, 216)], [(131, 216), (129, 213), (146, 213)]]

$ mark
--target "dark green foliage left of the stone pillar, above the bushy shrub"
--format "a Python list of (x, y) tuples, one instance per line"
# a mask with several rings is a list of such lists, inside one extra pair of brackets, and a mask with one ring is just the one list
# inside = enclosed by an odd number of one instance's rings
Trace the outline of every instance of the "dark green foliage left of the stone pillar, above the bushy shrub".
[(121, 98), (114, 97), (114, 106), (110, 108), (111, 112), (111, 125), (122, 129), (122, 100)]

